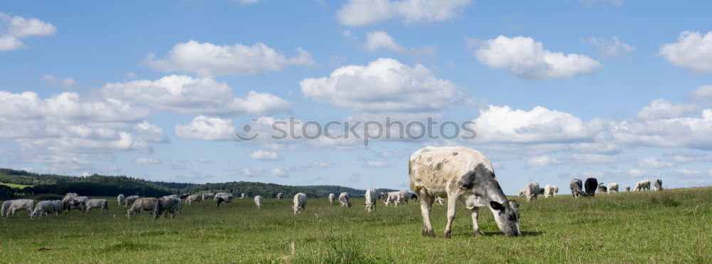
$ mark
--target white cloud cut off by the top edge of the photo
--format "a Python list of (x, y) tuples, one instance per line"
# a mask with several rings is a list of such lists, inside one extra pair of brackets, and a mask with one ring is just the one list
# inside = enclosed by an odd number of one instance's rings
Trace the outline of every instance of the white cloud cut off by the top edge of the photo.
[(365, 26), (389, 19), (404, 23), (432, 23), (461, 14), (471, 0), (350, 0), (337, 11), (346, 26)]

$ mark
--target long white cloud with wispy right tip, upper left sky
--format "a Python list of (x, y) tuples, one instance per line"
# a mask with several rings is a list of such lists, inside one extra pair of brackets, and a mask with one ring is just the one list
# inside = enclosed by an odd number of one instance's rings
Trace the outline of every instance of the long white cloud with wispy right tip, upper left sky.
[(149, 54), (144, 64), (164, 72), (195, 73), (203, 76), (258, 75), (281, 71), (290, 65), (314, 65), (312, 56), (297, 48), (298, 56), (287, 58), (263, 43), (244, 46), (217, 46), (212, 43), (188, 41), (178, 43), (164, 59)]

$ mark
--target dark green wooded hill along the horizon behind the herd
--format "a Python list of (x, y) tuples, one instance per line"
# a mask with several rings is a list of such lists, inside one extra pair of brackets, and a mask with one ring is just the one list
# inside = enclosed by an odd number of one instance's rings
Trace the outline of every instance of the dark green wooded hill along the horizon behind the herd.
[[(265, 198), (275, 197), (278, 193), (288, 196), (298, 192), (309, 197), (326, 197), (328, 194), (347, 192), (352, 197), (362, 197), (365, 190), (353, 189), (344, 186), (315, 185), (315, 186), (288, 186), (280, 184), (266, 184), (261, 182), (233, 181), (211, 184), (190, 184), (166, 181), (147, 181), (129, 176), (105, 176), (93, 174), (90, 176), (66, 176), (58, 174), (37, 174), (24, 170), (0, 169), (0, 182), (10, 186), (0, 185), (0, 199), (9, 199), (16, 196), (31, 194), (66, 194), (75, 192), (87, 196), (116, 196), (118, 194), (138, 196), (164, 196), (167, 194), (199, 194), (206, 192), (229, 192), (239, 196), (261, 195)], [(12, 188), (12, 184), (26, 186)], [(377, 189), (382, 191), (395, 191), (392, 189)]]

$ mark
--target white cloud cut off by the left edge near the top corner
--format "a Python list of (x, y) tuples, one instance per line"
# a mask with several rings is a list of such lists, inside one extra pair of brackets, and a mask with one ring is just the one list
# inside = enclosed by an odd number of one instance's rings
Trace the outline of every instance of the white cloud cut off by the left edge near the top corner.
[(56, 32), (57, 28), (51, 23), (0, 12), (0, 51), (24, 48), (23, 38), (53, 36)]

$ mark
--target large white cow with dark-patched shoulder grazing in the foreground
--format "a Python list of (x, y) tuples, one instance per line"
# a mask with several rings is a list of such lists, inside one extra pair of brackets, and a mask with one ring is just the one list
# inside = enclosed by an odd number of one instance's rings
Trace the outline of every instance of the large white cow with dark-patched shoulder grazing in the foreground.
[(498, 227), (507, 236), (521, 235), (519, 204), (507, 199), (491, 162), (480, 152), (466, 147), (425, 147), (411, 155), (408, 167), (410, 189), (420, 198), (423, 236), (435, 236), (430, 211), (434, 198), (442, 195), (448, 198), (446, 238), (450, 237), (458, 200), (471, 211), (473, 235), (481, 234), (477, 216), (482, 206), (490, 208)]

